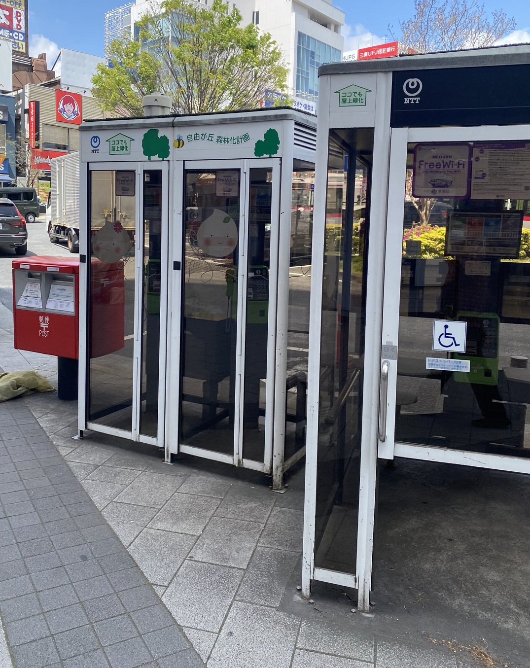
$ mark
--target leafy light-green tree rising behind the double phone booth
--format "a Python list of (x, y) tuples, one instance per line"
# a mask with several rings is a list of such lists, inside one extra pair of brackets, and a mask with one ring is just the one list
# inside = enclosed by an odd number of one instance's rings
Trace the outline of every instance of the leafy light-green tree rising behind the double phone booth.
[(285, 90), (287, 67), (271, 35), (242, 20), (223, 0), (152, 5), (137, 40), (112, 41), (92, 93), (124, 116), (143, 116), (142, 97), (153, 92), (168, 95), (176, 114), (257, 108), (265, 90)]

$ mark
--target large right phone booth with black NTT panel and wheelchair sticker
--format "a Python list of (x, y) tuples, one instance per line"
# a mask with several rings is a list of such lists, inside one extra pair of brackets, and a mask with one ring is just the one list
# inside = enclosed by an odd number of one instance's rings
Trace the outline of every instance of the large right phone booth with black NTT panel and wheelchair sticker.
[(368, 610), (378, 460), (530, 473), (529, 75), (527, 46), (319, 70), (307, 597)]

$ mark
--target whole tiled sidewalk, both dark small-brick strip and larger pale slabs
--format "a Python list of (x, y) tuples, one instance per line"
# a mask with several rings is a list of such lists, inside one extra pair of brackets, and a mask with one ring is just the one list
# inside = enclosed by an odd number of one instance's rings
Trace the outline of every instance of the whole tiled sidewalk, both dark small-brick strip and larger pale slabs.
[[(53, 382), (49, 358), (9, 351), (1, 309), (3, 366)], [(74, 434), (76, 405), (56, 395), (0, 404), (0, 617), (15, 668), (459, 665), (301, 599), (301, 491)]]

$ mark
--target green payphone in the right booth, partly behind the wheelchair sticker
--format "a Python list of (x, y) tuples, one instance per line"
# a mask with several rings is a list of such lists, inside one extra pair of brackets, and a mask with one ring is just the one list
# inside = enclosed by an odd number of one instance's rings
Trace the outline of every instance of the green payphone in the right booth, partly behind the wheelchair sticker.
[(469, 360), (469, 373), (455, 371), (458, 383), (497, 385), (499, 379), (499, 326), (495, 313), (457, 313), (456, 320), (467, 322), (466, 352), (452, 353), (454, 359)]

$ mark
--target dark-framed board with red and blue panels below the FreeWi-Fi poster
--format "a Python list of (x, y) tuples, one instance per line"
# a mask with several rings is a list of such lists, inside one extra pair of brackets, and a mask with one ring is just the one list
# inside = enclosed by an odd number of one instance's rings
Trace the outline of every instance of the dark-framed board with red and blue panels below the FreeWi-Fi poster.
[(453, 212), (445, 237), (445, 255), (488, 255), (517, 259), (523, 212)]

